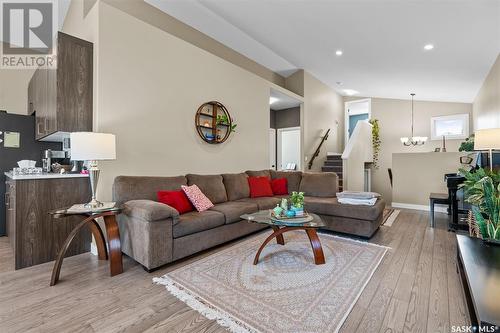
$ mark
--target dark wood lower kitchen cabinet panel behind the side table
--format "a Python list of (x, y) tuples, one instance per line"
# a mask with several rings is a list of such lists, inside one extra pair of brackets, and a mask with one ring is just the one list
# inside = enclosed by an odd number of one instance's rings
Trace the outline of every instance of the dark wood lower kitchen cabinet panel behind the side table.
[[(49, 212), (90, 200), (87, 177), (7, 178), (5, 205), (7, 236), (14, 251), (15, 269), (52, 261), (81, 217), (54, 219)], [(90, 251), (91, 233), (82, 230), (66, 256)]]

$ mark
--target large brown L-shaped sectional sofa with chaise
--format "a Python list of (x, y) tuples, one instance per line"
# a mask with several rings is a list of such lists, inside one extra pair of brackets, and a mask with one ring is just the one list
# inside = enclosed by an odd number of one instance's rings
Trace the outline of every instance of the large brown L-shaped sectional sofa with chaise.
[[(239, 217), (271, 209), (288, 196), (250, 198), (248, 176), (287, 178), (289, 193), (305, 193), (305, 209), (322, 217), (327, 225), (324, 229), (371, 237), (382, 223), (383, 199), (372, 207), (337, 202), (335, 173), (261, 170), (178, 177), (119, 176), (113, 184), (113, 197), (123, 207), (118, 216), (122, 251), (152, 270), (266, 228)], [(174, 208), (156, 202), (158, 191), (179, 190), (181, 185), (191, 184), (198, 185), (215, 206), (205, 212), (179, 215)]]

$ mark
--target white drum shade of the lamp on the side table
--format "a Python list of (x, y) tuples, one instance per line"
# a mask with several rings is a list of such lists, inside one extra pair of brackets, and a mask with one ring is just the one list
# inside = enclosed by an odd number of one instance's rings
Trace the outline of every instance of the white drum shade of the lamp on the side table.
[(71, 160), (102, 161), (116, 159), (114, 134), (75, 132), (70, 134)]

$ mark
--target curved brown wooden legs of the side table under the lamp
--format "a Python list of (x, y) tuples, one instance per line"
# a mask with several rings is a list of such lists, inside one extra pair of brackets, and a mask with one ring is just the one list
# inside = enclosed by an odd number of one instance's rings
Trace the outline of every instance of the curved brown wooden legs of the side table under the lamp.
[(86, 216), (86, 218), (70, 232), (70, 234), (64, 241), (63, 246), (59, 250), (54, 268), (52, 269), (52, 277), (50, 279), (51, 286), (55, 285), (57, 281), (59, 281), (59, 274), (61, 273), (61, 266), (64, 260), (64, 256), (66, 255), (66, 252), (68, 251), (68, 248), (75, 236), (85, 226), (88, 226), (90, 228), (90, 231), (92, 232), (92, 235), (94, 235), (99, 260), (108, 259), (108, 251), (106, 250), (104, 235), (101, 228), (99, 227), (99, 224), (95, 221), (99, 217), (104, 218), (106, 234), (108, 236), (110, 274), (111, 276), (115, 276), (117, 274), (123, 273), (120, 232), (118, 230), (118, 223), (116, 222), (115, 215), (103, 213), (88, 217)]

